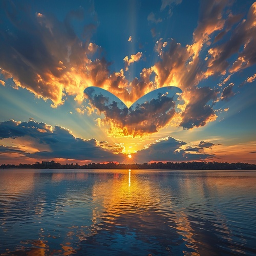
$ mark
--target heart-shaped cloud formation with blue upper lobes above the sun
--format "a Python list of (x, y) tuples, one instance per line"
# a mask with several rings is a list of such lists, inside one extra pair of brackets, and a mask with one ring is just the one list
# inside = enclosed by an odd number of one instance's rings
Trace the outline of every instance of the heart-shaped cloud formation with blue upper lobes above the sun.
[(127, 108), (118, 97), (102, 88), (88, 87), (84, 90), (91, 110), (104, 114), (104, 118), (98, 119), (98, 124), (107, 125), (109, 134), (115, 137), (141, 137), (168, 125), (179, 111), (180, 93), (182, 91), (178, 87), (159, 88)]

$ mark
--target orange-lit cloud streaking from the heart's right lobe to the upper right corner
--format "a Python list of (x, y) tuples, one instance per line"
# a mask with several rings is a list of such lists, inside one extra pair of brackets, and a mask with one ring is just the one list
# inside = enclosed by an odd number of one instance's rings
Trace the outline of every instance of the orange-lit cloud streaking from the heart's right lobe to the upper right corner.
[[(174, 39), (171, 39), (167, 42), (168, 47), (163, 48), (160, 39), (155, 46), (155, 50), (160, 56), (160, 61), (152, 67), (152, 72), (155, 73), (155, 84), (158, 88), (172, 85), (182, 89), (181, 97), (184, 99), (184, 104), (181, 106), (183, 112), (180, 115), (180, 126), (185, 129), (204, 126), (208, 122), (217, 119), (214, 104), (219, 99), (227, 99), (234, 95), (231, 86), (224, 89), (224, 94), (221, 96), (219, 96), (219, 91), (216, 89), (198, 88), (197, 86), (209, 76), (238, 72), (240, 68), (232, 70), (233, 65), (230, 65), (228, 58), (238, 52), (241, 47), (241, 40), (245, 47), (250, 47), (252, 46), (251, 42), (256, 38), (256, 33), (254, 33), (255, 24), (252, 22), (256, 13), (254, 12), (255, 4), (253, 4), (247, 15), (247, 20), (243, 20), (234, 28), (230, 40), (221, 42), (216, 47), (211, 47), (208, 51), (209, 58), (205, 58), (205, 61), (200, 58), (203, 47), (211, 44), (210, 36), (212, 34), (221, 31), (227, 32), (233, 24), (238, 23), (241, 19), (241, 15), (232, 15), (231, 13), (228, 14), (226, 19), (224, 18), (225, 10), (229, 4), (227, 0), (201, 2), (198, 26), (193, 34), (193, 44), (183, 47)], [(244, 23), (246, 25), (243, 25)], [(247, 35), (249, 40), (246, 39), (246, 36), (243, 36), (243, 33)], [(218, 40), (220, 39), (219, 37)], [(233, 44), (237, 46), (233, 47)], [(248, 58), (250, 56), (248, 63), (253, 63), (254, 50), (251, 50), (250, 54), (246, 52)], [(243, 54), (241, 53), (243, 56), (240, 54), (242, 60), (245, 59), (244, 53), (244, 51)], [(246, 68), (248, 65), (244, 67)], [(227, 82), (229, 78), (230, 74), (222, 84)]]

